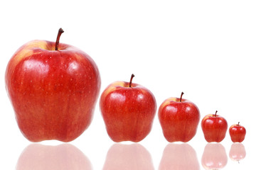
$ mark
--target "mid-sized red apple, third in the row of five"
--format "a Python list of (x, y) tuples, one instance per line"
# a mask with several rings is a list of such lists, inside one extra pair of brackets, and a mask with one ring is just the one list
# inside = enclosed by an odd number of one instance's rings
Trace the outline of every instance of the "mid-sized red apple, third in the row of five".
[(196, 135), (200, 112), (196, 104), (182, 98), (167, 98), (159, 107), (159, 121), (169, 142), (188, 142)]

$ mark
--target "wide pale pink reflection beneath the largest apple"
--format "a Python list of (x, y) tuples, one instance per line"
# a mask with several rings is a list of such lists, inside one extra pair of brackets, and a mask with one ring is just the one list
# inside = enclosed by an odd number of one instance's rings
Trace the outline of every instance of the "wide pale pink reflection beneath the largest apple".
[(17, 170), (41, 169), (92, 169), (87, 159), (77, 147), (70, 144), (47, 146), (31, 144), (21, 153), (16, 164)]

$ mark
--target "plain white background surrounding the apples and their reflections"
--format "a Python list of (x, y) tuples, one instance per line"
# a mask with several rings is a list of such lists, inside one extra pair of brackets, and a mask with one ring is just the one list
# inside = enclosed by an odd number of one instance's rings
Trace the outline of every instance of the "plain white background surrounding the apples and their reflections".
[[(242, 142), (246, 157), (240, 164), (229, 158), (233, 142), (227, 132), (221, 142), (228, 157), (224, 169), (251, 169), (256, 152), (255, 8), (256, 2), (247, 0), (1, 1), (0, 169), (16, 169), (21, 153), (31, 145), (18, 130), (6, 95), (6, 64), (30, 40), (55, 41), (60, 27), (65, 30), (60, 42), (79, 47), (97, 63), (101, 92), (113, 81), (129, 81), (133, 73), (133, 82), (149, 89), (158, 107), (183, 91), (183, 98), (200, 109), (201, 119), (218, 110), (228, 126), (240, 121), (247, 129)], [(98, 103), (90, 127), (70, 144), (86, 155), (93, 169), (102, 169), (114, 142), (107, 136)], [(169, 142), (157, 113), (151, 133), (139, 144), (158, 169)], [(207, 142), (200, 124), (188, 145), (201, 164)]]

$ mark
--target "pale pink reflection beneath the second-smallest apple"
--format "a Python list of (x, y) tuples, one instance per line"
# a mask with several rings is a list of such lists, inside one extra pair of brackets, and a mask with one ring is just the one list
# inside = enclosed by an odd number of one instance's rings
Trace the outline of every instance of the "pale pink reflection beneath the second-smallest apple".
[(228, 163), (225, 148), (220, 143), (208, 143), (203, 151), (202, 165), (204, 169), (223, 169)]

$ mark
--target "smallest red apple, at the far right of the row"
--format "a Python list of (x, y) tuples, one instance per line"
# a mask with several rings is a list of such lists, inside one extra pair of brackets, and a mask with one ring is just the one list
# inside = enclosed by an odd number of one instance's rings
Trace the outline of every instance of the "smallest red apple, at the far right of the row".
[(242, 142), (243, 140), (245, 140), (246, 130), (245, 127), (239, 125), (239, 122), (238, 124), (230, 126), (229, 133), (232, 142)]

